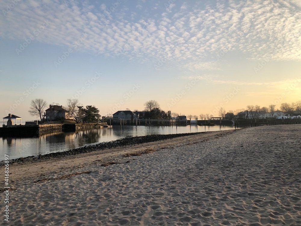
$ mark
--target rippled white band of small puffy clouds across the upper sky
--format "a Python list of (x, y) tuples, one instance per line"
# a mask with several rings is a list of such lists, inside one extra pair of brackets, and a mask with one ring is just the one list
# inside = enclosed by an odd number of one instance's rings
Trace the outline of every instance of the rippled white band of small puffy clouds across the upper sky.
[[(49, 26), (36, 37), (38, 42), (71, 46), (87, 33), (78, 51), (141, 61), (164, 58), (184, 62), (182, 67), (191, 70), (216, 69), (211, 61), (221, 50), (250, 60), (301, 60), (301, 12), (294, 0), (221, 1), (200, 7), (175, 2), (167, 8), (156, 3), (150, 11), (151, 3), (143, 1), (132, 7), (123, 1), (100, 6), (26, 1), (8, 10), (10, 4), (4, 0), (0, 5), (4, 39), (28, 39), (46, 20)], [(145, 8), (148, 19), (136, 7)]]

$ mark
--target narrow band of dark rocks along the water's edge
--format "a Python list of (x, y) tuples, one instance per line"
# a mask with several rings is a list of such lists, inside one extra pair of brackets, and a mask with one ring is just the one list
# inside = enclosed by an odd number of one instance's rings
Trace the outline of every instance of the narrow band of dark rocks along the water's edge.
[[(111, 149), (116, 147), (122, 147), (127, 145), (133, 145), (133, 144), (142, 144), (142, 143), (149, 143), (159, 140), (167, 140), (172, 139), (175, 137), (184, 137), (184, 136), (191, 136), (195, 134), (200, 133), (211, 133), (211, 132), (197, 132), (197, 133), (177, 133), (177, 134), (166, 134), (166, 135), (148, 135), (148, 136), (140, 136), (140, 137), (125, 137), (118, 140), (108, 141), (108, 142), (102, 142), (95, 145), (87, 145), (79, 148), (70, 149), (64, 152), (54, 152), (54, 153), (48, 153), (45, 155), (32, 155), (28, 157), (21, 157), (18, 159), (11, 159), (10, 163), (21, 163), (21, 162), (31, 162), (31, 161), (37, 161), (37, 160), (46, 160), (46, 159), (53, 159), (53, 158), (61, 158), (65, 156), (70, 155), (79, 155), (82, 153), (97, 151), (97, 150), (104, 150), (104, 149)], [(3, 165), (4, 161), (0, 163), (0, 165)]]

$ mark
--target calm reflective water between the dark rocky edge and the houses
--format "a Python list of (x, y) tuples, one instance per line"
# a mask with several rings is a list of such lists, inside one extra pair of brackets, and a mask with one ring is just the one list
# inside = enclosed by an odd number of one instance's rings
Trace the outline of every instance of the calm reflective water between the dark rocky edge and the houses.
[[(175, 133), (195, 133), (204, 131), (231, 130), (234, 127), (219, 126), (204, 127), (194, 125), (187, 127), (145, 127), (127, 126), (120, 129), (120, 126), (113, 128), (93, 128), (79, 130), (76, 132), (53, 132), (35, 138), (14, 138), (2, 137), (0, 146), (0, 160), (4, 159), (4, 154), (10, 159), (27, 157), (31, 155), (44, 155), (51, 152), (62, 152), (73, 148), (78, 148), (90, 144), (97, 144), (105, 141), (117, 140), (124, 137), (146, 136), (152, 134), (175, 134)], [(1, 137), (0, 137), (1, 139)]]

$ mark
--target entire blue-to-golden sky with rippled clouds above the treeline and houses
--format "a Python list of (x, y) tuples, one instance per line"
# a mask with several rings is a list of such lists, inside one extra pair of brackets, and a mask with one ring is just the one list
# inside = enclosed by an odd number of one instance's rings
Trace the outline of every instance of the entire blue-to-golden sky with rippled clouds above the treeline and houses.
[(79, 99), (101, 115), (301, 100), (298, 0), (2, 0), (0, 113)]

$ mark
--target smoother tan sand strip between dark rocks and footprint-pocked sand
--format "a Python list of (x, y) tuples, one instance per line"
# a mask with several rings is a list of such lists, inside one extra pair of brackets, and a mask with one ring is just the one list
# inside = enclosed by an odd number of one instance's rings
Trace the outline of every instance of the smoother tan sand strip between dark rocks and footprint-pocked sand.
[[(143, 143), (142, 140), (137, 140), (141, 143), (128, 145), (122, 143), (124, 144), (124, 146), (120, 145), (107, 149), (95, 149), (95, 145), (91, 145), (85, 146), (87, 152), (84, 151), (75, 155), (60, 155), (56, 158), (46, 157), (35, 160), (27, 158), (25, 161), (22, 161), (23, 159), (17, 159), (18, 161), (15, 162), (10, 161), (10, 166), (14, 169), (11, 177), (14, 181), (17, 182), (17, 180), (21, 178), (23, 179), (24, 177), (40, 179), (41, 177), (47, 177), (48, 175), (53, 176), (56, 171), (62, 171), (62, 173), (60, 173), (59, 175), (70, 174), (76, 172), (76, 169), (79, 170), (84, 165), (97, 164), (101, 166), (102, 164), (106, 164), (107, 162), (126, 162), (124, 155), (128, 153), (144, 152), (146, 149), (155, 149), (157, 151), (161, 151), (167, 148), (174, 149), (177, 146), (190, 145), (194, 142), (206, 142), (209, 139), (216, 139), (222, 136), (227, 136), (228, 134), (234, 133), (235, 131), (222, 130), (200, 132), (197, 134), (191, 134), (190, 136), (178, 136), (157, 141), (149, 141), (147, 143)], [(160, 137), (162, 138), (164, 137), (164, 135)], [(183, 140), (183, 137), (187, 137), (187, 139)], [(158, 139), (159, 137), (156, 138)]]

